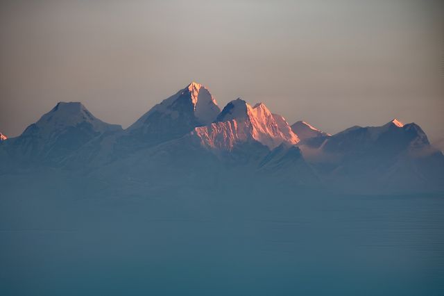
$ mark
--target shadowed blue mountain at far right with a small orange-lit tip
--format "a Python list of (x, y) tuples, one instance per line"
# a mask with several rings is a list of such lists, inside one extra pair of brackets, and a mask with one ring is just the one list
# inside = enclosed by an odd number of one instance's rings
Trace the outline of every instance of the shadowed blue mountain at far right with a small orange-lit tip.
[(330, 186), (425, 189), (444, 181), (443, 154), (414, 123), (352, 126), (332, 136), (309, 138), (300, 149)]

